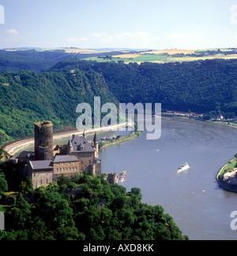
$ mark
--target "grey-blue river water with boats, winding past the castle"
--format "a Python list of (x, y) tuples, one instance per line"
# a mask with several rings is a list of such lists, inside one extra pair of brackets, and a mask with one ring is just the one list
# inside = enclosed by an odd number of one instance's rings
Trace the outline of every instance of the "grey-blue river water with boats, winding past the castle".
[[(101, 132), (98, 137), (114, 134), (126, 132)], [(216, 173), (235, 153), (235, 128), (162, 117), (160, 139), (147, 140), (143, 132), (137, 139), (104, 148), (99, 157), (103, 173), (126, 170), (126, 181), (119, 185), (127, 191), (140, 188), (142, 201), (160, 204), (183, 235), (198, 240), (229, 240), (237, 239), (237, 231), (230, 227), (231, 212), (237, 211), (237, 193), (221, 189)], [(184, 162), (190, 169), (178, 174)]]

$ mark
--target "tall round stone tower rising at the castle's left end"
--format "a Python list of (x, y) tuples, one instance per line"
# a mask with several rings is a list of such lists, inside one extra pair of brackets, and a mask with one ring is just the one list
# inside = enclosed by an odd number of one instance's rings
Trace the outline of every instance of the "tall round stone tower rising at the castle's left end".
[[(35, 123), (35, 160), (49, 160), (53, 155), (53, 123), (43, 121)], [(42, 154), (43, 153), (43, 154)]]

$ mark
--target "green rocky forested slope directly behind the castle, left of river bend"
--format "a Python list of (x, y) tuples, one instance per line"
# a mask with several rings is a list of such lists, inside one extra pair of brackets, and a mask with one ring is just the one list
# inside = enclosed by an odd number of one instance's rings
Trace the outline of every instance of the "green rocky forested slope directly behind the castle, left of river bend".
[(54, 128), (76, 128), (77, 105), (100, 96), (117, 102), (102, 75), (94, 71), (0, 73), (0, 144), (33, 135), (33, 123), (51, 120)]

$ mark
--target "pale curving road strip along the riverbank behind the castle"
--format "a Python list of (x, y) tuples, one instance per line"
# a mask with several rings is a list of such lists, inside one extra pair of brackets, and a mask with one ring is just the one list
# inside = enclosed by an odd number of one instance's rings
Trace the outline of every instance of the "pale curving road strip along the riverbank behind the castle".
[[(130, 122), (125, 122), (122, 124), (115, 124), (115, 125), (111, 125), (111, 126), (107, 126), (107, 127), (102, 127), (102, 128), (92, 128), (91, 130), (87, 130), (85, 131), (86, 134), (91, 134), (94, 132), (106, 132), (106, 131), (110, 131), (110, 130), (115, 130), (119, 127), (128, 125), (130, 126), (131, 123)], [(78, 131), (77, 129), (72, 130), (70, 132), (60, 132), (60, 133), (56, 133), (54, 135), (54, 140), (55, 139), (64, 139), (67, 137), (74, 135), (82, 135), (84, 131)], [(6, 151), (9, 155), (14, 155), (17, 153), (17, 151), (20, 151), (22, 148), (24, 147), (28, 147), (29, 145), (34, 144), (35, 139), (34, 137), (31, 138), (26, 138), (26, 139), (18, 139), (15, 140), (13, 142), (10, 143), (6, 143), (5, 145), (2, 146), (2, 149), (4, 151)]]

